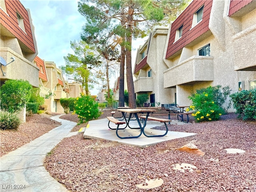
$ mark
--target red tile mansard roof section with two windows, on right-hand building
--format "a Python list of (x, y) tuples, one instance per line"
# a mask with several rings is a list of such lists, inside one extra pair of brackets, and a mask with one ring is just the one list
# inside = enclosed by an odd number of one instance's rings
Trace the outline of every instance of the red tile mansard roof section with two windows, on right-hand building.
[[(192, 27), (193, 15), (204, 5), (202, 21)], [(166, 58), (181, 50), (187, 44), (207, 32), (209, 29), (210, 12), (212, 9), (212, 0), (194, 0), (190, 5), (176, 18), (172, 23), (168, 47), (166, 50)], [(176, 30), (183, 25), (182, 36), (176, 42)]]

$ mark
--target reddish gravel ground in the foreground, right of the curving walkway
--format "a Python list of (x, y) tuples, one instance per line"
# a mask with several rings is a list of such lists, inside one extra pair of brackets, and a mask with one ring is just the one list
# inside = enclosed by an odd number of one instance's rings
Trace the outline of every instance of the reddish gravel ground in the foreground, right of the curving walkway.
[[(65, 116), (62, 118), (74, 118)], [(164, 126), (156, 129), (163, 130)], [(236, 114), (228, 114), (216, 122), (168, 125), (168, 129), (197, 135), (141, 149), (84, 139), (78, 134), (64, 138), (46, 157), (45, 167), (70, 191), (256, 192), (255, 122), (243, 122), (236, 119)], [(195, 144), (204, 156), (177, 150), (188, 143)], [(246, 152), (228, 154), (226, 148)], [(191, 172), (185, 166), (184, 172), (174, 170), (174, 164), (182, 163), (196, 168)], [(147, 180), (152, 179), (161, 179), (163, 184), (152, 189), (137, 187), (142, 184), (147, 188)]]

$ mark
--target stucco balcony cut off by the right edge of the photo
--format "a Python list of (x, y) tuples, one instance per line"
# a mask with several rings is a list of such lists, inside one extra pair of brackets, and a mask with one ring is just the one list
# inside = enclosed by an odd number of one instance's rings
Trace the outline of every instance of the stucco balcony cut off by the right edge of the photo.
[(234, 42), (234, 70), (256, 71), (256, 25), (232, 36)]

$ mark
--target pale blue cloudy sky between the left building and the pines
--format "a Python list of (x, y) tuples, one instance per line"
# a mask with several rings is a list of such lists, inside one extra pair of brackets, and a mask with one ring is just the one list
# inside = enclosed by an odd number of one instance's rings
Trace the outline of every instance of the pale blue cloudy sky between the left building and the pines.
[[(23, 6), (30, 10), (34, 25), (38, 57), (45, 61), (53, 61), (56, 65), (65, 65), (64, 56), (73, 54), (70, 41), (80, 40), (85, 18), (78, 12), (78, 0), (20, 0)], [(133, 41), (137, 49), (144, 40)], [(132, 52), (132, 66), (136, 51)], [(117, 76), (116, 76), (117, 78)], [(115, 78), (110, 84), (114, 86)], [(98, 94), (95, 85), (91, 94)]]

